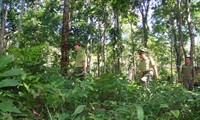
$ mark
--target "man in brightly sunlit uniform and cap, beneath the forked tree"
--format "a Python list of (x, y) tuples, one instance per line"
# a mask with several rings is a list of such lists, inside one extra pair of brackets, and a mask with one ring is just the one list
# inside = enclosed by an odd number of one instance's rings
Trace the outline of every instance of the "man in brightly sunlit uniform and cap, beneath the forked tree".
[(148, 55), (147, 49), (139, 49), (138, 53), (140, 57), (138, 70), (141, 82), (148, 85), (149, 81), (152, 79), (154, 74), (156, 80), (158, 80), (158, 71), (156, 63), (153, 60), (153, 58)]

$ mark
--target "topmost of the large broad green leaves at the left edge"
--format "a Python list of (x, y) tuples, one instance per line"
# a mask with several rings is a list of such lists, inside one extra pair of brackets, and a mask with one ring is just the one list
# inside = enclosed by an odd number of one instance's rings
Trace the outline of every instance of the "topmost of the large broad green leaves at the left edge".
[(13, 56), (0, 56), (0, 70), (13, 61)]

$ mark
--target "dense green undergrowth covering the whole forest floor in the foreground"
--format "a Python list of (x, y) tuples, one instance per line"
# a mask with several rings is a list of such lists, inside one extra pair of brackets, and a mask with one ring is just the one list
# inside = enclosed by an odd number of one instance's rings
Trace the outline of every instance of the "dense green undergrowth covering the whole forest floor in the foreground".
[(200, 88), (191, 92), (165, 80), (146, 87), (111, 73), (79, 81), (62, 77), (55, 68), (34, 76), (2, 70), (12, 60), (1, 56), (1, 119), (199, 118)]

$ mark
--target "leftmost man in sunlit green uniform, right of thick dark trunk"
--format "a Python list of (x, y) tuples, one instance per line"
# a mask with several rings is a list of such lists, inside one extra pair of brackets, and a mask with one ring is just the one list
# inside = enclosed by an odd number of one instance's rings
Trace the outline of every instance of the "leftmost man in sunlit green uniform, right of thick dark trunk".
[(74, 49), (77, 52), (75, 59), (75, 71), (74, 75), (80, 79), (84, 80), (87, 71), (86, 53), (83, 45), (80, 42), (76, 42)]

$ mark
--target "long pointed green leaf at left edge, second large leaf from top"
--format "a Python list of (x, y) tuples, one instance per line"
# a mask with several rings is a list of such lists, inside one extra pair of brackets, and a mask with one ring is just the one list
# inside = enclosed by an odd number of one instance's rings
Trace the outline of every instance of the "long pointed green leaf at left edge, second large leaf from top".
[(23, 74), (23, 70), (22, 69), (12, 69), (12, 70), (8, 70), (2, 74), (0, 74), (0, 77), (11, 77), (11, 76), (16, 76), (16, 75), (20, 75)]

